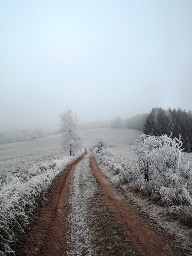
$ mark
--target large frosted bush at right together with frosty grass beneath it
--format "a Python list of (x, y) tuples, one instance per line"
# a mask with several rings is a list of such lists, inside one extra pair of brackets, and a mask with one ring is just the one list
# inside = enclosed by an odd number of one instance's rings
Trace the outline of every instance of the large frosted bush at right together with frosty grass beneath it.
[[(184, 161), (182, 150), (180, 138), (141, 134), (133, 144), (137, 158), (130, 174), (130, 186), (152, 196), (160, 204), (169, 207), (172, 213), (175, 210), (175, 215), (179, 212), (180, 219), (192, 225), (189, 182), (192, 178), (192, 165)], [(181, 214), (184, 209), (187, 210), (187, 221), (186, 212)]]

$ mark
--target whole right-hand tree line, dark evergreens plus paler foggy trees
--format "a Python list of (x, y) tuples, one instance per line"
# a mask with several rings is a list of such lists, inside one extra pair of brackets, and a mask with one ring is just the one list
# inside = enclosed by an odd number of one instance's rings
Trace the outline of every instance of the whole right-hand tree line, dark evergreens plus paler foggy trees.
[(111, 128), (128, 128), (143, 131), (145, 134), (161, 136), (172, 134), (172, 138), (181, 140), (185, 151), (192, 152), (192, 111), (169, 108), (152, 108), (149, 113), (138, 114), (122, 119), (117, 116), (110, 122)]

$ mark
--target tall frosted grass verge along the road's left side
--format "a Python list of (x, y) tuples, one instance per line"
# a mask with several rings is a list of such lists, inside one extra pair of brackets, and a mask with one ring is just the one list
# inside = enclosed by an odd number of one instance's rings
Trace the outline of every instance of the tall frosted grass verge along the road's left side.
[[(82, 154), (82, 152), (80, 152)], [(37, 200), (79, 155), (32, 165), (28, 172), (8, 173), (0, 180), (0, 255), (7, 255), (28, 224)]]

